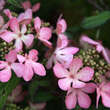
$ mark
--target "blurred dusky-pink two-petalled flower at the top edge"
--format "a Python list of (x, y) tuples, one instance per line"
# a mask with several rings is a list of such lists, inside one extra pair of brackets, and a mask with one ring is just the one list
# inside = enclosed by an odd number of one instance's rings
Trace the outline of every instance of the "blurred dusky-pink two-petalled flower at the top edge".
[(22, 7), (26, 10), (26, 9), (31, 9), (33, 12), (36, 12), (40, 9), (40, 3), (36, 3), (35, 5), (31, 5), (30, 1), (27, 0), (25, 2), (22, 3)]

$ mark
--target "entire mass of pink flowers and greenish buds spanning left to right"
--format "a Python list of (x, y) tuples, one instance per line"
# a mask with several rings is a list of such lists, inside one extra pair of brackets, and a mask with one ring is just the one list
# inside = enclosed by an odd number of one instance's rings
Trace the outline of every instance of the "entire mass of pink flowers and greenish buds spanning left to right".
[[(95, 90), (96, 107), (100, 97), (103, 105), (110, 107), (110, 50), (86, 35), (80, 38), (83, 48), (70, 45), (65, 34), (65, 19), (60, 16), (54, 29), (39, 16), (33, 17), (40, 3), (32, 6), (25, 1), (21, 5), (25, 12), (20, 14), (4, 9), (8, 21), (0, 15), (0, 81), (8, 82), (12, 72), (30, 81), (34, 74), (46, 76), (46, 69), (53, 68), (59, 88), (67, 91), (67, 109), (75, 108), (77, 103), (82, 108), (89, 108), (91, 98), (87, 94)], [(53, 33), (57, 35), (55, 48)], [(42, 46), (46, 50), (45, 58), (39, 57)], [(47, 61), (46, 68), (43, 59)]]

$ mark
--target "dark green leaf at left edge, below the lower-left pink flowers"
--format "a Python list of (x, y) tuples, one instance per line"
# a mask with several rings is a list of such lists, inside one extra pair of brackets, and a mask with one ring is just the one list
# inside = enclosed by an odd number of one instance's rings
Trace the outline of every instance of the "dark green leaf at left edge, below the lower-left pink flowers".
[(15, 75), (7, 83), (0, 83), (0, 110), (2, 110), (8, 95), (18, 85), (20, 79)]

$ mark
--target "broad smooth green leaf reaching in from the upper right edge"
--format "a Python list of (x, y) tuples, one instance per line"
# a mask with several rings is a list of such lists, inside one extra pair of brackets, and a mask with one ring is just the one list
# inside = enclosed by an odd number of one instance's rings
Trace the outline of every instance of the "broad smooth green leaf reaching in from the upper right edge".
[(81, 24), (81, 27), (84, 29), (95, 28), (104, 24), (109, 19), (110, 19), (110, 11), (104, 11), (96, 16), (85, 18)]

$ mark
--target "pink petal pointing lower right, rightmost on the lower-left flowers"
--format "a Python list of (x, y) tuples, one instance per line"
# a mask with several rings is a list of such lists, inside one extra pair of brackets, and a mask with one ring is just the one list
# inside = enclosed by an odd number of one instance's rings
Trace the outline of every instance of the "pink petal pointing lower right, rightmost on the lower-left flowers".
[(46, 75), (46, 70), (44, 66), (40, 63), (32, 63), (32, 67), (34, 69), (34, 72), (39, 75), (39, 76), (45, 76)]

